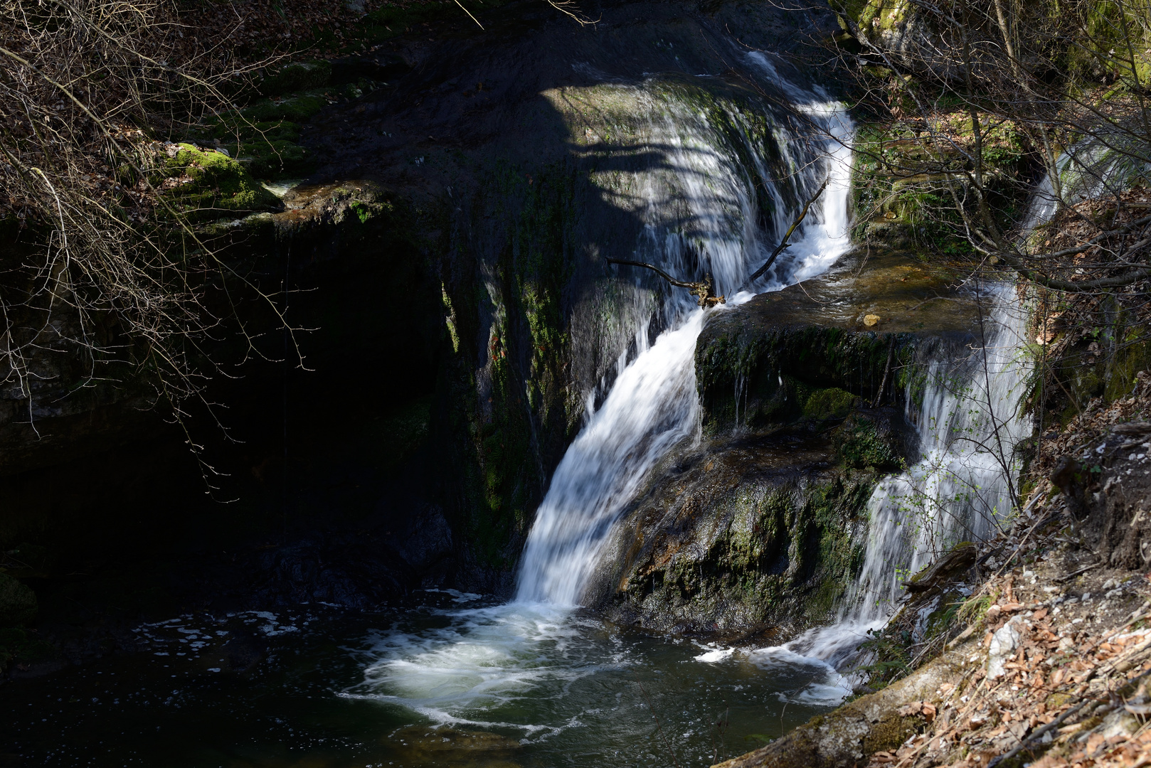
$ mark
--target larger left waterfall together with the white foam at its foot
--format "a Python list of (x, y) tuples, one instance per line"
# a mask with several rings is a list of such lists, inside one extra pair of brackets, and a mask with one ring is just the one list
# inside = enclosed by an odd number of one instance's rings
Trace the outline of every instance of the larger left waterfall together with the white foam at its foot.
[[(849, 248), (851, 119), (828, 97), (787, 84), (762, 54), (749, 54), (747, 62), (780, 86), (800, 115), (767, 115), (767, 138), (762, 130), (759, 139), (753, 138), (755, 126), (764, 124), (763, 115), (755, 115), (760, 122), (753, 124), (752, 115), (730, 107), (730, 124), (719, 127), (658, 81), (638, 89), (611, 86), (647, 109), (648, 144), (663, 153), (662, 162), (637, 174), (630, 187), (633, 197), (640, 190), (646, 199), (640, 206), (646, 231), (635, 256), (628, 257), (684, 279), (709, 273), (717, 292), (729, 294), (729, 305), (820, 274)], [(733, 146), (737, 142), (739, 146)], [(773, 165), (761, 157), (763, 142), (773, 145)], [(777, 180), (780, 167), (786, 177)], [(748, 275), (825, 180), (826, 190), (791, 248), (748, 286)], [(763, 195), (770, 198), (768, 206)], [(771, 214), (764, 223), (765, 207)], [(570, 728), (618, 727), (600, 709), (577, 708), (579, 697), (573, 692), (581, 685), (611, 690), (617, 683), (608, 678), (648, 663), (638, 655), (707, 661), (707, 654), (695, 656), (698, 651), (674, 644), (643, 646), (641, 653), (635, 640), (605, 633), (599, 622), (576, 610), (611, 525), (645, 474), (672, 446), (699, 436), (694, 350), (706, 312), (686, 291), (668, 291), (647, 274), (620, 279), (658, 286), (662, 301), (648, 302), (655, 309), (647, 317), (633, 313), (635, 357), (619, 371), (600, 408), (589, 406), (587, 423), (552, 476), (524, 552), (516, 600), (433, 611), (425, 623), (413, 619), (380, 633), (367, 654), (364, 683), (348, 697), (394, 702), (441, 723), (520, 729), (525, 739), (551, 739), (562, 738)], [(723, 306), (708, 310), (722, 311)], [(663, 328), (654, 341), (648, 337), (651, 327)], [(587, 401), (595, 397), (588, 395)], [(772, 684), (794, 687), (798, 675), (810, 677), (805, 671), (808, 663), (779, 666)], [(822, 666), (816, 668), (823, 674)], [(762, 675), (753, 668), (730, 671), (738, 679)], [(718, 679), (709, 674), (712, 682)], [(750, 702), (770, 694), (763, 689), (737, 693), (742, 689), (727, 685), (723, 695), (729, 701), (748, 697)], [(625, 685), (616, 698), (625, 690), (627, 695), (634, 691)], [(523, 712), (525, 700), (551, 704), (540, 712)], [(793, 712), (800, 717), (805, 709)], [(696, 737), (688, 731), (674, 738)]]

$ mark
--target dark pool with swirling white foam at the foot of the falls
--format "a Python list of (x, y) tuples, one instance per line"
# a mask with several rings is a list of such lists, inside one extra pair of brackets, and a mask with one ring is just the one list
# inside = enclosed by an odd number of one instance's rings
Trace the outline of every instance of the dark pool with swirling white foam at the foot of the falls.
[(314, 606), (145, 625), (138, 654), (6, 686), (2, 756), (48, 766), (706, 766), (847, 693), (830, 667), (784, 648), (732, 651), (580, 611), (429, 596), (450, 607)]

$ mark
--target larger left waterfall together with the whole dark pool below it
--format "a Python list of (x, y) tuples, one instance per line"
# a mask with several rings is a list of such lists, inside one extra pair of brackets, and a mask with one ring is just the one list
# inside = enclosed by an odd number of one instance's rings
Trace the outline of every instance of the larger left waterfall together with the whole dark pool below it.
[[(754, 121), (738, 111), (731, 132), (658, 84), (637, 98), (666, 157), (634, 180), (647, 201), (634, 256), (683, 277), (708, 272), (732, 304), (820, 274), (849, 248), (849, 117), (826, 94), (786, 84), (763, 55), (748, 61), (805, 121), (768, 114), (770, 138), (753, 140)], [(769, 144), (782, 159), (775, 170)], [(792, 248), (746, 284), (829, 178)], [(653, 306), (634, 328), (634, 359), (622, 360), (551, 480), (514, 602), (453, 593), (433, 595), (442, 607), (395, 614), (140, 628), (155, 651), (13, 689), (5, 744), (60, 766), (700, 766), (837, 705), (846, 683), (818, 654), (638, 634), (577, 607), (643, 474), (698, 433), (703, 312), (681, 290)], [(649, 328), (663, 333), (649, 342)], [(221, 644), (242, 633), (268, 642), (270, 656), (229, 671)]]

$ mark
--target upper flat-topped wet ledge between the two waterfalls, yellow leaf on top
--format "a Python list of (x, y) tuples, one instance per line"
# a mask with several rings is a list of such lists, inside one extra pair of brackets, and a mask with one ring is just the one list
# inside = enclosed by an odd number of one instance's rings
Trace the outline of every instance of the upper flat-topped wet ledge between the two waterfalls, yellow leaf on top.
[(945, 265), (857, 250), (824, 275), (712, 313), (695, 348), (704, 434), (916, 397), (927, 356), (969, 342), (988, 311), (953, 284)]

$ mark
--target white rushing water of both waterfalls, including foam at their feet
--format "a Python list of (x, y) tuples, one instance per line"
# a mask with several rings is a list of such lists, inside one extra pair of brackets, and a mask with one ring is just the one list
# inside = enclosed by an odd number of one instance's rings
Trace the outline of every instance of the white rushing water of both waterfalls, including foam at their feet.
[[(664, 153), (663, 165), (639, 174), (631, 188), (646, 200), (647, 222), (632, 258), (688, 279), (698, 279), (702, 264), (718, 294), (738, 291), (727, 306), (820, 274), (849, 249), (851, 119), (841, 105), (786, 84), (761, 54), (749, 54), (748, 61), (779, 83), (814, 126), (803, 135), (795, 132), (795, 123), (771, 121), (777, 149), (791, 168), (787, 180), (772, 177), (757, 152), (742, 153), (754, 167), (742, 165), (729, 138), (673, 96), (631, 94), (649, 107), (651, 145)], [(737, 124), (744, 119), (731, 117)], [(744, 149), (755, 147), (748, 142)], [(746, 286), (747, 275), (824, 180), (828, 189), (792, 246), (756, 284)], [(767, 227), (756, 221), (755, 181), (775, 204)], [(643, 276), (623, 279), (641, 282)], [(1028, 373), (1019, 351), (1022, 312), (1006, 288), (985, 292), (985, 299), (993, 309), (980, 343), (966, 355), (940, 348), (938, 359), (927, 364), (925, 380), (908, 383), (908, 418), (917, 428), (921, 458), (876, 487), (862, 573), (837, 623), (747, 653), (709, 646), (692, 656), (695, 662), (726, 664), (739, 656), (769, 670), (771, 680), (799, 680), (772, 694), (782, 701), (834, 705), (851, 692), (846, 670), (868, 631), (886, 623), (901, 595), (900, 583), (948, 546), (984, 538), (1012, 509), (1017, 472), (1012, 450), (1029, 428), (1019, 411)], [(611, 526), (646, 474), (673, 446), (699, 439), (694, 352), (706, 312), (681, 289), (649, 303), (646, 312), (633, 312), (631, 319), (634, 359), (620, 357), (618, 375), (599, 408), (594, 394), (587, 397), (588, 419), (536, 511), (516, 599), (439, 611), (430, 625), (382, 633), (356, 695), (392, 701), (442, 723), (519, 728), (525, 738), (550, 738), (578, 727), (580, 718), (565, 723), (558, 715), (548, 720), (508, 712), (525, 699), (570, 691), (584, 678), (597, 680), (605, 669), (635, 663), (618, 651), (618, 639), (605, 645), (602, 630), (585, 625), (574, 608)], [(648, 337), (653, 325), (664, 328), (654, 340)], [(922, 387), (921, 397), (913, 386)], [(547, 695), (561, 701), (567, 694)]]

